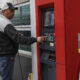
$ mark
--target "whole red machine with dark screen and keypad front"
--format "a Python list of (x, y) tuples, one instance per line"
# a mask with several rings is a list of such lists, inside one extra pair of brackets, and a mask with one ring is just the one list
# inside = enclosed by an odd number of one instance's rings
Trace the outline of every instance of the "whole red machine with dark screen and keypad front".
[(78, 80), (80, 1), (36, 0), (35, 3), (37, 36), (48, 36), (37, 45), (38, 80)]

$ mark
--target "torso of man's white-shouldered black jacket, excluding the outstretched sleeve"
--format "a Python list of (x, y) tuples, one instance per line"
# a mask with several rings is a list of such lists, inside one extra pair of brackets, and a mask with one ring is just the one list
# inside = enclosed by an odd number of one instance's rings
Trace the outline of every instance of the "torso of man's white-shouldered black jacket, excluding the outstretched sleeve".
[(1, 56), (8, 55), (8, 54), (16, 54), (18, 50), (18, 44), (14, 43), (5, 33), (5, 29), (7, 29), (6, 27), (9, 25), (12, 25), (12, 23), (3, 15), (0, 15), (0, 55)]

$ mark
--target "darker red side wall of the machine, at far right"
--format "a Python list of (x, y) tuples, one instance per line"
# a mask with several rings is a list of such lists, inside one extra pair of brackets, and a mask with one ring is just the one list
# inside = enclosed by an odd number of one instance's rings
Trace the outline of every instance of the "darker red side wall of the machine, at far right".
[(79, 80), (80, 54), (78, 33), (80, 33), (80, 0), (65, 1), (65, 30), (67, 54), (67, 80)]

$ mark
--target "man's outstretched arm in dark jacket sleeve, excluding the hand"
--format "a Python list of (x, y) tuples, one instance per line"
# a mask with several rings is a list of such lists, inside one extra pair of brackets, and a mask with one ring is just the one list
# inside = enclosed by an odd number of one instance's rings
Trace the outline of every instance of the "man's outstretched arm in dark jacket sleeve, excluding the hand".
[(8, 38), (10, 38), (15, 43), (20, 44), (32, 44), (37, 42), (37, 38), (34, 37), (26, 37), (18, 33), (18, 31), (13, 27), (13, 25), (8, 24), (5, 29), (4, 33)]

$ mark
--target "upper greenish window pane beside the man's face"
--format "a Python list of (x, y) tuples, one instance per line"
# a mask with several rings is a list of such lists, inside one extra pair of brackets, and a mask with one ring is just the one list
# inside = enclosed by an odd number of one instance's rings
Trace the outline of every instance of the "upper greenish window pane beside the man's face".
[(30, 4), (19, 6), (11, 21), (15, 26), (30, 25)]

